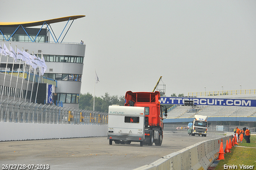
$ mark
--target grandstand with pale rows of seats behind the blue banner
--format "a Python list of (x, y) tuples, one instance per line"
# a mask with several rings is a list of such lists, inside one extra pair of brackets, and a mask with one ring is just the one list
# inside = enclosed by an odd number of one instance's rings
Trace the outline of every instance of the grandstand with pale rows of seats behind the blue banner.
[[(207, 96), (208, 98), (236, 98), (236, 99), (256, 99), (256, 94), (243, 95), (220, 95)], [(240, 124), (247, 124), (254, 127), (256, 122), (256, 107), (242, 107), (242, 106), (184, 106), (174, 105), (168, 109), (165, 123), (180, 123), (192, 122), (194, 115), (208, 116), (208, 121), (213, 125), (222, 124), (225, 121), (228, 126), (236, 126)], [(218, 122), (218, 123), (217, 123)], [(228, 122), (228, 123), (227, 123)]]

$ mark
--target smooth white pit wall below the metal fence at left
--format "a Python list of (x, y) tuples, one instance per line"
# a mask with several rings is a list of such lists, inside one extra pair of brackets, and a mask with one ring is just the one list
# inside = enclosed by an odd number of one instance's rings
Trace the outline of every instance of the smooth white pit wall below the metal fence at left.
[(0, 141), (107, 136), (108, 126), (0, 122)]

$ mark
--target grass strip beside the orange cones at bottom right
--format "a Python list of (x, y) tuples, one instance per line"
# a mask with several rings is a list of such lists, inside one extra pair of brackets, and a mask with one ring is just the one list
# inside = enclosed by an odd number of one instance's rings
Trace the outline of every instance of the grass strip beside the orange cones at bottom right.
[(251, 135), (250, 142), (251, 143), (246, 143), (246, 140), (243, 139), (243, 141), (239, 143), (239, 145), (237, 146), (255, 147), (255, 148), (236, 147), (236, 145), (235, 147), (233, 146), (233, 148), (230, 149), (231, 152), (224, 154), (225, 159), (220, 160), (215, 170), (250, 169), (250, 167), (243, 167), (243, 165), (253, 166), (252, 170), (256, 170), (256, 135)]

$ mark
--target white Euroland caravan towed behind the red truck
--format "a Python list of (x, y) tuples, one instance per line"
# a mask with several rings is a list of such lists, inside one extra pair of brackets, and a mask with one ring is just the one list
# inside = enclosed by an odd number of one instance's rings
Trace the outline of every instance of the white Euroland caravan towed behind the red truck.
[(108, 139), (115, 144), (130, 144), (145, 139), (145, 108), (112, 105), (108, 107)]

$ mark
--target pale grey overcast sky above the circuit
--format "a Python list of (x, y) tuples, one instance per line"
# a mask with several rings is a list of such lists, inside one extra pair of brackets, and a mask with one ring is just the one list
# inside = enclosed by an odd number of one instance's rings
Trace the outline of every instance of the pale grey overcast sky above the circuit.
[[(255, 0), (0, 1), (0, 22), (86, 16), (63, 40), (86, 44), (82, 94), (94, 70), (98, 97), (152, 92), (160, 76), (166, 96), (256, 89)], [(65, 24), (51, 26), (59, 36)]]

